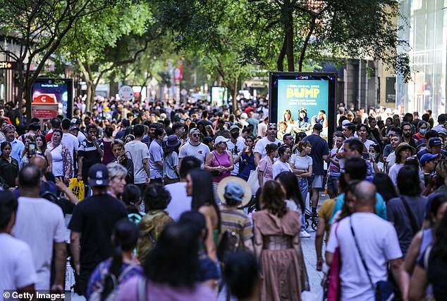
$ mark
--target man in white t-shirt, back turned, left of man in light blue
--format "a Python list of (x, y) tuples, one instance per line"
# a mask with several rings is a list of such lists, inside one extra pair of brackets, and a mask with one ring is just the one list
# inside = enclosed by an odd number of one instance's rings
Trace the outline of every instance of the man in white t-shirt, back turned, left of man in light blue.
[(146, 143), (142, 143), (141, 139), (145, 133), (145, 126), (137, 124), (133, 128), (135, 140), (125, 144), (125, 153), (133, 162), (133, 179), (135, 185), (140, 187), (140, 190), (145, 191), (146, 185), (151, 179), (149, 167), (149, 148)]

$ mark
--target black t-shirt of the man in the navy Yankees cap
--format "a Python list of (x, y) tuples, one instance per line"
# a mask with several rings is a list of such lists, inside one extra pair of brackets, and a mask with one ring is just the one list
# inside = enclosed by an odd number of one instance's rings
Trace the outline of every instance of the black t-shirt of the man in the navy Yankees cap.
[(94, 268), (111, 256), (115, 224), (127, 217), (121, 201), (109, 194), (90, 196), (75, 206), (68, 228), (80, 232), (80, 264)]

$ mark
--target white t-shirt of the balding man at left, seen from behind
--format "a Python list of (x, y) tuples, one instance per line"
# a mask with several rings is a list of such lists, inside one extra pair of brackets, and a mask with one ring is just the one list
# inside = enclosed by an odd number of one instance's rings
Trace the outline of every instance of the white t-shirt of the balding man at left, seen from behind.
[(66, 225), (62, 209), (46, 199), (18, 198), (16, 224), (12, 234), (32, 247), (37, 271), (36, 290), (49, 290), (54, 242), (65, 242)]

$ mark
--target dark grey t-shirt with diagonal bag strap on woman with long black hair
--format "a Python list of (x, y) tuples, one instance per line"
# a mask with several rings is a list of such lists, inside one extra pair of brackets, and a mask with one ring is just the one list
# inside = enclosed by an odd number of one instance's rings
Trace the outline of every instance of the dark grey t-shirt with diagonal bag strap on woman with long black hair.
[[(403, 196), (412, 211), (412, 215), (417, 222), (418, 230), (422, 228), (422, 223), (427, 212), (427, 197), (425, 196)], [(400, 198), (394, 198), (388, 201), (386, 204), (386, 217), (388, 221), (394, 224), (396, 232), (398, 232), (400, 249), (403, 256), (407, 253), (408, 247), (412, 238), (416, 233), (413, 232), (411, 227), (410, 218), (408, 217), (405, 206)]]

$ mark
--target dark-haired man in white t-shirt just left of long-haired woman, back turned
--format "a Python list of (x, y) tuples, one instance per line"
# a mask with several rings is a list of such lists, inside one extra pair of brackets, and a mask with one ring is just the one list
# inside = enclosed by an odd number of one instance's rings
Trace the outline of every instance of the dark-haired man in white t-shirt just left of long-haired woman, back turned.
[(183, 158), (180, 164), (180, 182), (167, 184), (164, 188), (171, 194), (171, 201), (166, 208), (166, 212), (177, 221), (183, 212), (191, 210), (191, 196), (186, 193), (186, 176), (190, 170), (200, 168), (200, 160), (192, 156)]

